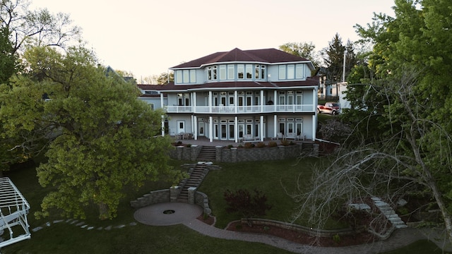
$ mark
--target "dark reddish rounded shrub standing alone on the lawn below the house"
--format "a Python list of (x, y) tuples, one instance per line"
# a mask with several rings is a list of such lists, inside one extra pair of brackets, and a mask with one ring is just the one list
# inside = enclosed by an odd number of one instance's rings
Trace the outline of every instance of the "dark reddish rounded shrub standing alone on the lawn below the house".
[(244, 189), (234, 192), (226, 190), (223, 195), (227, 203), (226, 212), (237, 212), (246, 219), (265, 215), (271, 208), (271, 205), (267, 204), (266, 195), (256, 189), (253, 195)]

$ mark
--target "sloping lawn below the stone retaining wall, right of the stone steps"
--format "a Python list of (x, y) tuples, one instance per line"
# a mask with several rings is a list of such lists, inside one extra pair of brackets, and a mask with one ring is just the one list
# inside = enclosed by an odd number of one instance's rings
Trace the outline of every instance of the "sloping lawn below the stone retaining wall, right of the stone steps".
[[(263, 163), (221, 164), (222, 169), (210, 171), (198, 190), (208, 195), (210, 207), (217, 217), (216, 226), (219, 228), (225, 228), (227, 223), (240, 219), (240, 214), (225, 212), (226, 202), (223, 193), (227, 189), (236, 191), (244, 188), (249, 191), (254, 189), (262, 191), (268, 198), (268, 204), (273, 206), (265, 218), (291, 222), (296, 207), (290, 194), (297, 192), (299, 176), (301, 176), (299, 180), (302, 183), (301, 186), (309, 181), (310, 165), (315, 162), (316, 159), (304, 159), (299, 163), (296, 159), (286, 159)], [(306, 225), (307, 222), (304, 219), (298, 219), (296, 223)], [(333, 222), (329, 226), (340, 227)]]

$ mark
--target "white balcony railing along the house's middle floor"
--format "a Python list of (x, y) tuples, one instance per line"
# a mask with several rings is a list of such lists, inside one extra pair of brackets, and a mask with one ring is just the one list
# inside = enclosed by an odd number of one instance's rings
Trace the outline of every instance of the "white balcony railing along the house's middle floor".
[(316, 105), (264, 105), (264, 106), (167, 106), (168, 113), (198, 113), (198, 114), (262, 114), (262, 113), (312, 113)]

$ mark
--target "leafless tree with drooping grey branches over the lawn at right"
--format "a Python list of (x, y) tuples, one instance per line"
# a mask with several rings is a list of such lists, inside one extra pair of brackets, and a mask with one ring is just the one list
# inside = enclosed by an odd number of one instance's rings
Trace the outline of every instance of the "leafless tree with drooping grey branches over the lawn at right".
[[(423, 116), (425, 104), (415, 99), (420, 73), (400, 71), (374, 87), (388, 98), (382, 112), (388, 130), (376, 133), (385, 138), (369, 142), (361, 133), (353, 133), (349, 138), (354, 142), (326, 160), (331, 164), (314, 167), (308, 191), (295, 195), (299, 216), (308, 216), (312, 224), (321, 227), (326, 217), (350, 202), (379, 197), (397, 207), (400, 198), (427, 193), (440, 210), (452, 240), (452, 136)], [(369, 119), (364, 123), (373, 124)]]

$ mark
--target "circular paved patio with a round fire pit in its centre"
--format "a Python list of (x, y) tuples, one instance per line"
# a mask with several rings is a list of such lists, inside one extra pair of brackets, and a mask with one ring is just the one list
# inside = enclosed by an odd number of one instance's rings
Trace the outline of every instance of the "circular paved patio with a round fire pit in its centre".
[(169, 226), (183, 224), (196, 219), (203, 213), (199, 205), (181, 202), (164, 202), (142, 207), (133, 214), (138, 221), (150, 226)]

